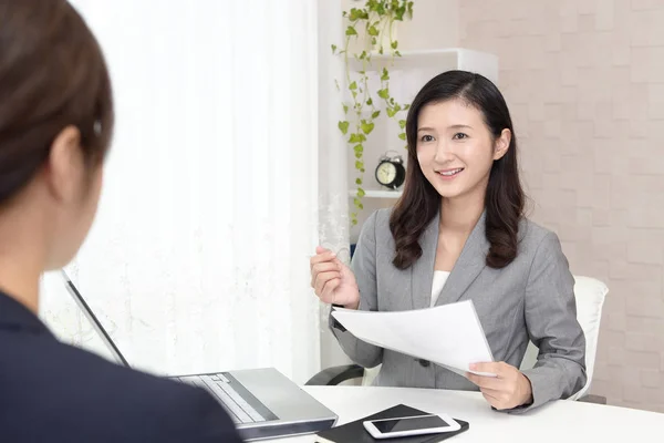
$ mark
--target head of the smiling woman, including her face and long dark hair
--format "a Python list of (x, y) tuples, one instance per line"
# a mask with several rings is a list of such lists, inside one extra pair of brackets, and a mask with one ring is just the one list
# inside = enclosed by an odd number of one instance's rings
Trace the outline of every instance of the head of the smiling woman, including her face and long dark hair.
[[(419, 257), (417, 240), (438, 213), (440, 197), (446, 206), (460, 196), (486, 200), (491, 244), (487, 265), (509, 265), (517, 255), (523, 190), (517, 138), (498, 89), (479, 74), (450, 71), (436, 76), (415, 97), (406, 135), (406, 182), (413, 184), (406, 186), (392, 214), (391, 229), (397, 243), (394, 265), (405, 269)], [(412, 214), (423, 216), (413, 218)]]

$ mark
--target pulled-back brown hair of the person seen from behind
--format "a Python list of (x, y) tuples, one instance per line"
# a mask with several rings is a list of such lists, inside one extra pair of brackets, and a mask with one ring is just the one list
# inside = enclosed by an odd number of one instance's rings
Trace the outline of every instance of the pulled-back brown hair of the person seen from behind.
[(0, 0), (0, 205), (49, 157), (68, 125), (86, 164), (113, 133), (111, 81), (94, 35), (65, 0)]

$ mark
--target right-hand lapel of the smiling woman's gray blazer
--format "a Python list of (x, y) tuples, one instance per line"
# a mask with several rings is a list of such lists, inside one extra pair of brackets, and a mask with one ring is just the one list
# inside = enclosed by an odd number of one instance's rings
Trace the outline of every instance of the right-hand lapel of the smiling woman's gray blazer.
[[(436, 306), (458, 301), (470, 284), (479, 276), (479, 272), (486, 267), (489, 241), (486, 236), (485, 218), (486, 213), (483, 213), (479, 220), (477, 220), (475, 228), (468, 236), (464, 249), (461, 250), (461, 255), (454, 265), (449, 277), (447, 277), (447, 281), (443, 287), (443, 292), (440, 292), (440, 296), (436, 301)], [(437, 241), (434, 246), (434, 257), (436, 245)]]

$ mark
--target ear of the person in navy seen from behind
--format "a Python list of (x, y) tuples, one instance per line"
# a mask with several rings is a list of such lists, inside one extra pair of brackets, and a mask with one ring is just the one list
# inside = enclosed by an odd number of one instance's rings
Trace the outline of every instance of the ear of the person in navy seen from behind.
[(84, 169), (81, 132), (66, 126), (53, 140), (49, 153), (46, 181), (51, 195), (60, 202), (79, 198)]

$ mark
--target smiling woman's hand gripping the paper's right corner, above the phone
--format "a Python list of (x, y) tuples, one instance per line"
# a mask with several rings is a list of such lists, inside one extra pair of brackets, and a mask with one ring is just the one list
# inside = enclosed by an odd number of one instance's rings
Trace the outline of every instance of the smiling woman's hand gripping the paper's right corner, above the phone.
[(505, 362), (474, 363), (470, 364), (470, 370), (497, 375), (466, 373), (466, 378), (479, 387), (484, 398), (491, 406), (505, 410), (532, 402), (530, 380), (511, 364)]

